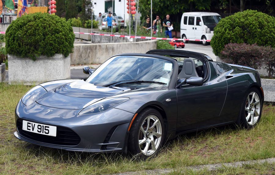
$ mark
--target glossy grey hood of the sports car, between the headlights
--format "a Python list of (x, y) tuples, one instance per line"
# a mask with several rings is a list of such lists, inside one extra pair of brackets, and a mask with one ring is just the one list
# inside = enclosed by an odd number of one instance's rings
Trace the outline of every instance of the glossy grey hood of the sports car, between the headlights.
[(130, 88), (95, 86), (85, 81), (71, 82), (49, 90), (36, 103), (61, 109), (83, 109), (106, 97), (111, 97)]

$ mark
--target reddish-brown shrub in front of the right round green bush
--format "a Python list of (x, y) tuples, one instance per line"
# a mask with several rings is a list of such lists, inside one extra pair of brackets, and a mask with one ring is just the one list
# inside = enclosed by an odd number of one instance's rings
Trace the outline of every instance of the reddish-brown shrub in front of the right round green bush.
[(271, 77), (275, 75), (274, 53), (275, 48), (270, 46), (229, 43), (220, 53), (220, 58), (226, 63), (244, 65), (254, 69), (264, 67)]

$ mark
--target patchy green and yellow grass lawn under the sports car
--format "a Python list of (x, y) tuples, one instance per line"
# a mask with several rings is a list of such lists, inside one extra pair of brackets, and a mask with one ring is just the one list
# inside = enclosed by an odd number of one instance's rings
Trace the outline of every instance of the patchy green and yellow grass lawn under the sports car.
[[(275, 106), (265, 105), (259, 125), (246, 130), (232, 126), (185, 134), (168, 141), (147, 161), (120, 154), (75, 153), (17, 140), (14, 110), (30, 86), (0, 83), (0, 174), (110, 174), (156, 168), (245, 161), (275, 157)], [(274, 165), (226, 168), (187, 174), (274, 174)], [(267, 173), (268, 172), (268, 173)], [(250, 173), (250, 174), (251, 174)]]

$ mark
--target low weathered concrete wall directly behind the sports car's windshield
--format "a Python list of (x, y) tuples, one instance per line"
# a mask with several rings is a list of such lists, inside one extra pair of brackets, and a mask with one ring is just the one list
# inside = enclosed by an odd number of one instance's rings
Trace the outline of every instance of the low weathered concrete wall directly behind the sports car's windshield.
[(146, 53), (156, 49), (156, 40), (130, 43), (76, 44), (71, 64), (102, 64), (119, 53)]

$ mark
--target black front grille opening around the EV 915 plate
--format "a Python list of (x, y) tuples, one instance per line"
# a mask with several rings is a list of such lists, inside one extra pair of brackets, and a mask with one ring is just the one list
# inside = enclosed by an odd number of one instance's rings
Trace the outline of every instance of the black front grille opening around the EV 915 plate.
[(18, 119), (16, 123), (18, 132), (31, 140), (36, 140), (39, 142), (57, 144), (57, 145), (66, 145), (66, 146), (75, 146), (80, 143), (80, 137), (71, 129), (57, 126), (56, 137), (47, 136), (38, 133), (32, 133), (22, 129), (23, 120)]

